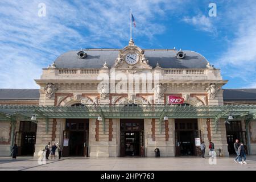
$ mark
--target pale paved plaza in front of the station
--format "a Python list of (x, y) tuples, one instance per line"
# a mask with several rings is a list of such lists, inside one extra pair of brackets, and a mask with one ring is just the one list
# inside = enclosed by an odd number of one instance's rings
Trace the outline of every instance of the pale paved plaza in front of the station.
[[(139, 170), (256, 170), (256, 156), (247, 156), (247, 164), (236, 164), (233, 157), (217, 158), (216, 164), (209, 164), (209, 159), (198, 157), (178, 158), (63, 158), (48, 160), (46, 164), (39, 164), (38, 159), (19, 157), (12, 160), (0, 157), (0, 170), (18, 171), (53, 171), (53, 170), (82, 170), (82, 171), (139, 171)], [(211, 162), (211, 163), (214, 163)]]

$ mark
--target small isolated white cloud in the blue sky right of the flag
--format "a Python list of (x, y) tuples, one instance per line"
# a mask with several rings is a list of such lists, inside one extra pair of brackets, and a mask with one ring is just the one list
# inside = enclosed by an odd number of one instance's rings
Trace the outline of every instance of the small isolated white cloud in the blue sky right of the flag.
[(195, 26), (198, 30), (203, 30), (207, 32), (215, 32), (216, 28), (213, 26), (212, 22), (210, 21), (210, 18), (205, 15), (196, 15), (193, 17), (184, 17), (183, 21), (192, 24)]

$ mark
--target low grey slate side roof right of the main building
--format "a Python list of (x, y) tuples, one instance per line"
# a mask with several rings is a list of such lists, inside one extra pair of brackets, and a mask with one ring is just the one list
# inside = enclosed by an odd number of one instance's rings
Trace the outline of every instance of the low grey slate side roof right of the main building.
[(256, 100), (256, 89), (223, 89), (223, 100)]

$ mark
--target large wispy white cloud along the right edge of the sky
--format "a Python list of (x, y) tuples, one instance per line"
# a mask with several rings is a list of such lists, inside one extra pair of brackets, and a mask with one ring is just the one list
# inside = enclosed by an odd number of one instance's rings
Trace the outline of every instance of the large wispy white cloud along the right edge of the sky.
[[(216, 60), (232, 78), (241, 78), (247, 88), (256, 87), (256, 6), (247, 2), (223, 14), (222, 25), (230, 31), (228, 46)], [(233, 36), (232, 36), (233, 34)]]

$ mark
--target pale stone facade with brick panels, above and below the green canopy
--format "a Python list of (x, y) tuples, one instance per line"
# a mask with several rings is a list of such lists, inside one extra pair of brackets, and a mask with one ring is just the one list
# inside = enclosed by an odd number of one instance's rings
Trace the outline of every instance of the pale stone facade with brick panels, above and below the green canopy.
[[(127, 53), (137, 54), (136, 64), (126, 63)], [(141, 48), (130, 42), (129, 46), (119, 50), (112, 67), (105, 63), (102, 68), (63, 69), (55, 65), (44, 68), (41, 78), (35, 80), (40, 86), (39, 105), (168, 104), (168, 96), (182, 97), (185, 104), (195, 106), (224, 105), (221, 88), (227, 81), (222, 79), (220, 69), (211, 67), (209, 63), (205, 68), (162, 68), (159, 64), (151, 67), (150, 60), (147, 60), (145, 55), (146, 53)], [(107, 60), (108, 57), (106, 57)], [(147, 75), (150, 76), (149, 79)], [(120, 77), (126, 78), (128, 82), (120, 85), (120, 82), (116, 81)], [(102, 82), (102, 78), (109, 79)], [(141, 81), (138, 81), (139, 79)], [(144, 82), (148, 80), (151, 82), (147, 82), (145, 86)], [(116, 88), (122, 88), (120, 89), (122, 92)], [(175, 156), (175, 119), (162, 122), (162, 126), (160, 126), (159, 119), (155, 118), (146, 118), (143, 123), (144, 155), (155, 156), (154, 150), (159, 148), (161, 156)], [(228, 156), (224, 122), (222, 120), (218, 122), (217, 131), (214, 130), (212, 119), (199, 118), (197, 123), (201, 131), (201, 140), (204, 140), (207, 146), (208, 141), (212, 140), (215, 147), (220, 148), (224, 156)], [(10, 148), (7, 132), (9, 125), (10, 123), (7, 122), (1, 123), (0, 151), (2, 155), (6, 155)], [(35, 157), (48, 142), (63, 144), (65, 125), (65, 118), (49, 119), (48, 132), (46, 132), (47, 122), (39, 119)], [(255, 127), (254, 123), (250, 124), (252, 142), (256, 140)], [(161, 132), (160, 128), (162, 128)], [(96, 118), (89, 119), (88, 156), (120, 156), (120, 119), (106, 118), (105, 129), (104, 132), (103, 123), (97, 121)], [(251, 146), (251, 150), (255, 153), (256, 144)]]

